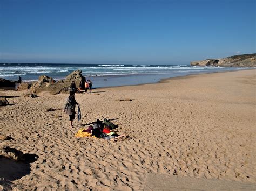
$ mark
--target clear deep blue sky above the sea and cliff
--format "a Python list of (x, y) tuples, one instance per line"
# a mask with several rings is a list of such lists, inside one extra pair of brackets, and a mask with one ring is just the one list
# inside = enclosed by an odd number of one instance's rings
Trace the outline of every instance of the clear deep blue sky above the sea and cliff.
[(255, 0), (0, 0), (0, 62), (189, 64), (256, 52)]

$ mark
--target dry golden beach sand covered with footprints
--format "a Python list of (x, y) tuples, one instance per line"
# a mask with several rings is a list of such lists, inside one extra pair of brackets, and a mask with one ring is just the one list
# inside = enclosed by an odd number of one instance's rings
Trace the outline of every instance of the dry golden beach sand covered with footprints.
[[(14, 105), (0, 107), (0, 134), (13, 138), (0, 146), (39, 156), (29, 172), (16, 172), (12, 187), (142, 190), (148, 173), (255, 183), (255, 71), (76, 94), (82, 121), (75, 119), (73, 129), (62, 110), (46, 112), (63, 108), (68, 95), (24, 98), (26, 91), (0, 91), (19, 96), (8, 98)], [(130, 138), (114, 143), (74, 137), (103, 117), (115, 119)]]

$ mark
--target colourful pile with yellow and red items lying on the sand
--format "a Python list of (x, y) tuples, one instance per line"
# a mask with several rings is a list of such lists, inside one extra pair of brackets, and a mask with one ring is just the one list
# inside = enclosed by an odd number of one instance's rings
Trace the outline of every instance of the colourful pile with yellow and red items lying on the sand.
[(117, 127), (118, 125), (113, 124), (110, 119), (104, 118), (103, 121), (97, 119), (97, 121), (93, 122), (93, 125), (90, 125), (87, 129), (79, 129), (75, 134), (75, 137), (96, 137), (106, 140), (118, 140), (120, 138), (125, 139), (125, 134), (118, 135), (116, 132), (112, 131)]

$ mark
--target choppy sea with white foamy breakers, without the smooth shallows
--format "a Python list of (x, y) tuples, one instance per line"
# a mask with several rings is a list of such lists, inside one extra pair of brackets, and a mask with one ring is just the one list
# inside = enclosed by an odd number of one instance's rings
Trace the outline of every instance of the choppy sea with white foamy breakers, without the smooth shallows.
[[(64, 79), (73, 70), (82, 70), (84, 76), (107, 76), (107, 75), (142, 75), (142, 74), (182, 74), (182, 73), (207, 73), (225, 70), (238, 70), (241, 68), (224, 68), (212, 66), (188, 66), (188, 65), (47, 65), (38, 64), (13, 65), (3, 63), (0, 65), (0, 77), (16, 79), (23, 76), (24, 80), (37, 80), (39, 75), (48, 75)], [(32, 81), (28, 80), (28, 81)]]

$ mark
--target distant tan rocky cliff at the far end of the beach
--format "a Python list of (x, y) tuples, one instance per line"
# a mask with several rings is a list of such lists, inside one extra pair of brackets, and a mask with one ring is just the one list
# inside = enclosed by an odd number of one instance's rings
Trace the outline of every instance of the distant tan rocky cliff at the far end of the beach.
[(190, 62), (191, 66), (256, 67), (256, 53)]

